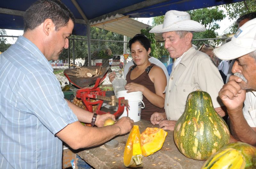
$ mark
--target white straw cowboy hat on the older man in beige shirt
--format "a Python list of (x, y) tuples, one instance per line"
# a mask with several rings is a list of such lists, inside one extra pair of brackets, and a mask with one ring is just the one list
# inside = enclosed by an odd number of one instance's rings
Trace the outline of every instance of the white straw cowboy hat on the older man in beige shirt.
[(164, 24), (152, 28), (150, 33), (164, 33), (172, 31), (203, 32), (205, 27), (200, 23), (190, 20), (188, 12), (168, 11), (164, 15)]

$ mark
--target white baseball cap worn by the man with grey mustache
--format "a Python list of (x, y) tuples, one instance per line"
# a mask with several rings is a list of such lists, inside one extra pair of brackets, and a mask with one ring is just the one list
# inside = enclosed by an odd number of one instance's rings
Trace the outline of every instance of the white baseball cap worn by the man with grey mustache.
[(221, 60), (232, 60), (256, 50), (256, 18), (241, 26), (231, 41), (217, 47), (213, 53)]

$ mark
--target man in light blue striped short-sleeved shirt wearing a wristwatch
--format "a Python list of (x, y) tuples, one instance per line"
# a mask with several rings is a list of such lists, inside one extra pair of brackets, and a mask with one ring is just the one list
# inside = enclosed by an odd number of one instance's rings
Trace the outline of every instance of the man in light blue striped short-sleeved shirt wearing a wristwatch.
[(37, 1), (24, 25), (23, 36), (0, 55), (0, 168), (61, 168), (62, 141), (79, 149), (129, 132), (129, 117), (102, 127), (115, 117), (93, 115), (64, 99), (49, 61), (68, 48), (74, 27), (68, 8), (58, 0)]

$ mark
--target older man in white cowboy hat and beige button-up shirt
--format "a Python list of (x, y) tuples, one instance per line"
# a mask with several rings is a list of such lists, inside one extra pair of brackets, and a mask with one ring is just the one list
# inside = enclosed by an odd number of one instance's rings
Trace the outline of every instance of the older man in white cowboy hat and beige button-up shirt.
[(222, 105), (217, 101), (218, 92), (224, 84), (219, 70), (207, 54), (192, 47), (192, 33), (203, 31), (205, 27), (190, 20), (187, 12), (173, 10), (166, 12), (162, 25), (149, 31), (163, 33), (164, 47), (170, 57), (176, 59), (165, 88), (165, 113), (155, 112), (150, 118), (152, 124), (159, 124), (159, 128), (174, 129), (184, 112), (188, 94), (197, 89), (208, 92), (215, 110), (225, 116)]

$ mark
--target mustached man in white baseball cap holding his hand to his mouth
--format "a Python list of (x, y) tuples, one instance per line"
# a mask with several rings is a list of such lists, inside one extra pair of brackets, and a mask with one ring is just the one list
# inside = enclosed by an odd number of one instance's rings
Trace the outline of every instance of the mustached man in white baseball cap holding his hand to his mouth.
[(222, 60), (236, 59), (234, 75), (219, 92), (227, 108), (230, 132), (239, 141), (256, 145), (256, 18), (246, 22), (230, 42), (213, 52)]

